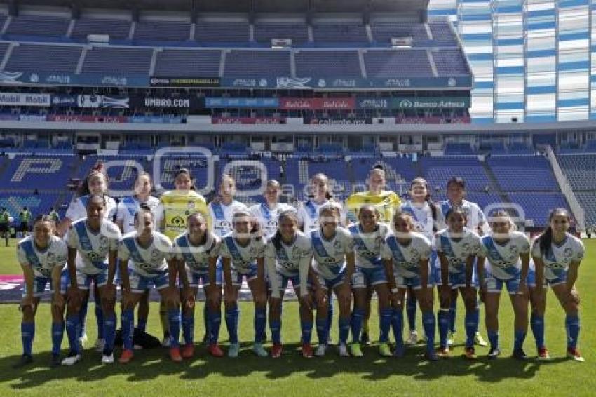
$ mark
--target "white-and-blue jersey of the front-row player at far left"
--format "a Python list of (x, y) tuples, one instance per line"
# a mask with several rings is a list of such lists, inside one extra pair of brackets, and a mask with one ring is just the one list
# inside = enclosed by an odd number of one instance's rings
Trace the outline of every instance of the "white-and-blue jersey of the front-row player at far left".
[(33, 236), (27, 236), (17, 245), (17, 257), (19, 264), (32, 267), (34, 276), (51, 278), (55, 267), (65, 269), (68, 247), (60, 237), (51, 236), (49, 245), (40, 250)]

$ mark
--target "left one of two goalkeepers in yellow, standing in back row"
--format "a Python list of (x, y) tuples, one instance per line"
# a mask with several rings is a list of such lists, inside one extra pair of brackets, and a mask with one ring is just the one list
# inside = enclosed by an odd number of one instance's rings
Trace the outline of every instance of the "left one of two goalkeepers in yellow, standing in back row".
[[(205, 198), (195, 191), (192, 176), (187, 168), (178, 168), (174, 173), (174, 190), (166, 191), (159, 198), (158, 213), (160, 230), (173, 241), (177, 236), (187, 230), (186, 220), (188, 215), (201, 213), (208, 215)], [(180, 271), (181, 269), (179, 269)], [(170, 332), (168, 330), (168, 309), (165, 302), (159, 307), (161, 330), (163, 331), (162, 345), (170, 346)], [(204, 314), (205, 329), (207, 329), (207, 314)], [(206, 335), (205, 335), (206, 337)]]

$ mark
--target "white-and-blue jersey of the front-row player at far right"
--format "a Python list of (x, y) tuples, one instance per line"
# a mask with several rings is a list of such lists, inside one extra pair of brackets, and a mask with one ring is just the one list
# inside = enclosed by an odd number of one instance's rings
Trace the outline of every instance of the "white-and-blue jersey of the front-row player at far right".
[(542, 260), (544, 264), (544, 277), (547, 280), (554, 280), (562, 276), (569, 268), (571, 262), (580, 262), (583, 260), (585, 248), (581, 240), (576, 236), (567, 233), (561, 244), (550, 243), (550, 250), (546, 255), (543, 255), (540, 251), (539, 237), (534, 240), (531, 255), (536, 259)]

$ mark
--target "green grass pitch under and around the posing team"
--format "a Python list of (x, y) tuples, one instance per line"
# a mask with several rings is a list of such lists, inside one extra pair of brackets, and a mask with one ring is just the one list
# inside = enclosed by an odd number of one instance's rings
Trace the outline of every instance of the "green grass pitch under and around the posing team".
[[(552, 292), (548, 294), (546, 342), (553, 360), (538, 362), (531, 332), (525, 349), (526, 362), (508, 358), (513, 339), (513, 312), (508, 298), (501, 298), (501, 346), (503, 356), (487, 361), (487, 348), (478, 348), (478, 361), (461, 358), (463, 352), (463, 305), (458, 310), (458, 344), (449, 360), (427, 363), (420, 358), (424, 346), (408, 349), (405, 358), (387, 359), (377, 354), (374, 345), (365, 349), (365, 358), (339, 358), (331, 349), (327, 357), (304, 359), (298, 354), (298, 308), (287, 302), (284, 310), (283, 339), (285, 354), (279, 360), (257, 358), (250, 351), (252, 304), (241, 304), (241, 340), (238, 359), (211, 358), (198, 346), (192, 361), (172, 363), (167, 351), (137, 352), (129, 365), (101, 365), (100, 355), (86, 349), (83, 361), (74, 368), (48, 366), (50, 360), (50, 313), (42, 304), (37, 314), (34, 365), (13, 370), (21, 354), (20, 312), (16, 304), (0, 305), (0, 396), (478, 396), (478, 395), (557, 395), (594, 396), (596, 387), (596, 241), (585, 241), (587, 255), (580, 268), (578, 290), (581, 294), (581, 337), (579, 347), (585, 363), (564, 358), (564, 313)], [(14, 245), (14, 241), (11, 242)], [(1, 244), (4, 245), (4, 242)], [(14, 246), (0, 248), (0, 274), (18, 274)], [(202, 304), (198, 305), (202, 309)], [(149, 332), (159, 335), (158, 308), (151, 306)], [(201, 310), (202, 311), (202, 310)], [(201, 318), (197, 311), (197, 318)], [(88, 344), (95, 341), (93, 309), (88, 317)], [(420, 322), (420, 315), (417, 317)], [(483, 322), (483, 315), (481, 315)], [(203, 326), (196, 324), (196, 339)], [(378, 335), (376, 317), (371, 321), (372, 335)], [(421, 330), (421, 324), (418, 325)], [(484, 324), (480, 330), (486, 335)], [(337, 323), (333, 325), (337, 339)], [(222, 345), (227, 334), (222, 322)], [(316, 337), (313, 337), (316, 340)], [(62, 344), (67, 346), (67, 339)], [(65, 351), (64, 351), (65, 352)], [(116, 352), (116, 355), (119, 352)]]

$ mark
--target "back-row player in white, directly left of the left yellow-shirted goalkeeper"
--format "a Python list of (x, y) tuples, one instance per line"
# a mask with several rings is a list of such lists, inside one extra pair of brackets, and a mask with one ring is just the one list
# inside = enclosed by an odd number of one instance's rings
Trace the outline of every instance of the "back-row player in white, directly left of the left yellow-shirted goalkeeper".
[[(121, 199), (116, 209), (116, 224), (123, 234), (130, 233), (135, 230), (135, 215), (141, 208), (141, 204), (145, 204), (151, 208), (155, 219), (158, 220), (161, 214), (158, 211), (159, 200), (151, 196), (151, 189), (153, 182), (149, 173), (139, 173), (135, 180), (135, 195), (128, 196)], [(156, 222), (159, 224), (159, 222)], [(118, 274), (116, 274), (116, 277)], [(147, 329), (147, 317), (149, 316), (149, 290), (145, 291), (143, 297), (139, 302), (137, 328), (144, 332)]]

